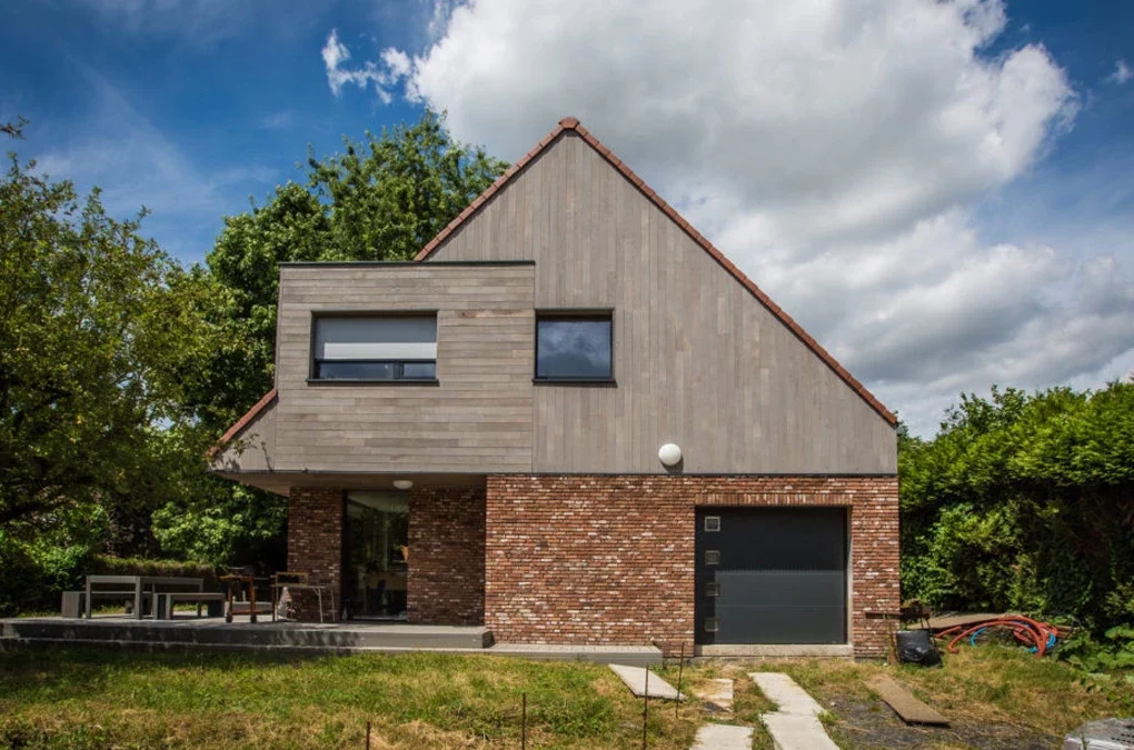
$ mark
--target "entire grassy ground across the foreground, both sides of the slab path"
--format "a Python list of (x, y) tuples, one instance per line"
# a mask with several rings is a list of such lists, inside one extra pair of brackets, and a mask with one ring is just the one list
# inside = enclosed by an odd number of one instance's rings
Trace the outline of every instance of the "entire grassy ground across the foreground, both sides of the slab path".
[[(760, 715), (773, 710), (748, 679), (790, 674), (829, 715), (828, 731), (858, 748), (1058, 747), (1080, 724), (1134, 713), (1134, 683), (1105, 690), (1050, 658), (984, 646), (949, 656), (945, 668), (844, 660), (700, 662), (684, 689), (735, 680), (735, 714), (771, 748)], [(865, 681), (887, 671), (953, 723), (908, 727)], [(663, 676), (677, 682), (677, 668)], [(641, 747), (642, 704), (601, 665), (494, 656), (406, 654), (285, 658), (235, 654), (146, 654), (60, 648), (0, 651), (3, 748), (518, 748), (527, 693), (530, 748)], [(686, 750), (695, 702), (651, 704), (649, 747)]]

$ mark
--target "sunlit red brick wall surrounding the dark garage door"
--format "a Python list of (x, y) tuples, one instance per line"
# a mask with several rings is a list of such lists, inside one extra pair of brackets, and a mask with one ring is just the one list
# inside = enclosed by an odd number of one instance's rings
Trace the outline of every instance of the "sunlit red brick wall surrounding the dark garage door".
[(694, 640), (695, 508), (850, 506), (850, 630), (882, 656), (898, 588), (896, 477), (490, 476), (485, 624), (498, 641)]

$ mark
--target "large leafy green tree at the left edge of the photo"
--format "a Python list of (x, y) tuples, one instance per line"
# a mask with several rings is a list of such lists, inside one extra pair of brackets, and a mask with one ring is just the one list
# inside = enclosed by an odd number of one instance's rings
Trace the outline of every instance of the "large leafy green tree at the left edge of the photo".
[[(19, 137), (25, 121), (2, 129)], [(0, 611), (42, 606), (94, 552), (155, 552), (150, 512), (212, 440), (186, 408), (225, 346), (214, 298), (139, 235), (9, 154), (0, 178)], [(36, 598), (39, 595), (39, 599)]]

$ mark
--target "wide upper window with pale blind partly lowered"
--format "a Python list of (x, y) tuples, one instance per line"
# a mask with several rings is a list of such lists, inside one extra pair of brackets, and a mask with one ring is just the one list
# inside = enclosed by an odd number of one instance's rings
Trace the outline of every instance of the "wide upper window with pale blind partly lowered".
[(313, 380), (437, 380), (435, 315), (318, 315), (314, 329)]

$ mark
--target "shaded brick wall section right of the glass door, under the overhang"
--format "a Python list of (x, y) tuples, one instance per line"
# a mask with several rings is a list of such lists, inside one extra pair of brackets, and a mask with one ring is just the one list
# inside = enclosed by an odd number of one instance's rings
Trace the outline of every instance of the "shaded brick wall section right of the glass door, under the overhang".
[(484, 491), (409, 495), (409, 622), (484, 623)]

